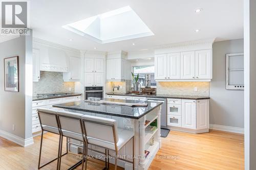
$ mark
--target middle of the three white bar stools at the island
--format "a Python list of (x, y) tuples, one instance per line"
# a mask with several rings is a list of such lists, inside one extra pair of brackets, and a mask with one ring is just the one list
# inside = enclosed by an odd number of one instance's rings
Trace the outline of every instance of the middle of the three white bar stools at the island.
[[(81, 114), (81, 113), (69, 112), (69, 111), (65, 111), (65, 110), (57, 112), (57, 119), (58, 119), (58, 123), (59, 123), (60, 134), (61, 134), (58, 169), (60, 169), (60, 165), (61, 165), (61, 156), (60, 155), (62, 152), (63, 136), (82, 142), (82, 144), (80, 145), (77, 143), (67, 141), (67, 144), (73, 144), (73, 145), (76, 145), (77, 147), (83, 149), (83, 152), (82, 152), (82, 169), (83, 169), (84, 160), (85, 160), (84, 157), (87, 155), (87, 153), (86, 153), (87, 141), (86, 141), (86, 137), (83, 135), (83, 127), (82, 127), (82, 121), (81, 121), (82, 116), (83, 116), (83, 114)], [(77, 164), (78, 163), (76, 163), (72, 167), (76, 166)]]

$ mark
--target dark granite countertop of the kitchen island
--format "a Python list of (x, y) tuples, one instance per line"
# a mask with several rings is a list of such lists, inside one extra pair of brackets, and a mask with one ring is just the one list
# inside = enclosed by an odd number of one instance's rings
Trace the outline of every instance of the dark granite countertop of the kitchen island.
[(145, 102), (145, 101), (132, 101), (132, 100), (119, 100), (119, 99), (104, 99), (105, 101), (123, 102), (123, 103), (147, 103), (146, 107), (130, 107), (110, 104), (98, 104), (86, 101), (77, 101), (64, 104), (53, 105), (53, 107), (83, 111), (96, 114), (112, 115), (117, 117), (126, 117), (139, 119), (146, 115), (148, 112), (159, 107), (161, 102)]

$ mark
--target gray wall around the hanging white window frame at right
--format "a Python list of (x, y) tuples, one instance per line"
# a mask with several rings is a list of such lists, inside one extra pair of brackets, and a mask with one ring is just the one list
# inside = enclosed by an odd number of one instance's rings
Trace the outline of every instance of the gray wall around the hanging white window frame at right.
[(210, 82), (210, 124), (244, 128), (244, 91), (226, 90), (226, 54), (244, 51), (243, 39), (212, 45), (213, 74)]

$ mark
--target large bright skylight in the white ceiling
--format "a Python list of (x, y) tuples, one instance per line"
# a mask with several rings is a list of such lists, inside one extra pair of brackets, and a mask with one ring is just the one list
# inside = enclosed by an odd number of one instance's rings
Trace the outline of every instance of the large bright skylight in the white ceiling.
[(98, 43), (154, 35), (130, 6), (69, 23), (62, 27)]

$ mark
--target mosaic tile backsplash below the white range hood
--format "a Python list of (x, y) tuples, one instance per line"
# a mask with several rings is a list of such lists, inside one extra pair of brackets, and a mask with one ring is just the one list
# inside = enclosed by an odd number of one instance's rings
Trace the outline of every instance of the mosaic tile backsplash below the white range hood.
[[(71, 88), (71, 91), (69, 91)], [(74, 82), (63, 82), (62, 72), (40, 71), (39, 82), (33, 82), (33, 96), (38, 93), (74, 92)]]

